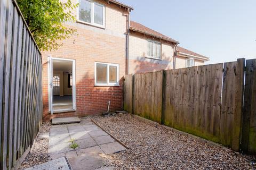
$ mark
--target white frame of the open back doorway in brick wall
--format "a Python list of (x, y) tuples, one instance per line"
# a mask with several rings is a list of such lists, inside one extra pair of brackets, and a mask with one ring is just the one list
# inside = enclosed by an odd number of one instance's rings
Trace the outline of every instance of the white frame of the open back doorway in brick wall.
[(70, 109), (60, 109), (55, 112), (53, 110), (53, 90), (52, 90), (52, 75), (53, 75), (53, 60), (62, 60), (62, 61), (71, 61), (72, 62), (72, 100), (73, 100), (73, 111), (76, 111), (76, 61), (74, 59), (67, 59), (67, 58), (59, 58), (59, 57), (52, 57), (51, 55), (48, 56), (48, 98), (49, 98), (49, 112), (51, 113), (58, 113), (58, 111), (70, 111)]

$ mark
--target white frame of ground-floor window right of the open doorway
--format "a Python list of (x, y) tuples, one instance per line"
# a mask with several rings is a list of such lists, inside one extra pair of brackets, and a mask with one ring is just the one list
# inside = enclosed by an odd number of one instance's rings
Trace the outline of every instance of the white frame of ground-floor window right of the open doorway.
[[(107, 83), (97, 83), (97, 64), (106, 64), (107, 65)], [(117, 67), (116, 83), (109, 82), (109, 66)], [(95, 83), (95, 86), (119, 86), (119, 64), (95, 62), (94, 63), (94, 83)]]

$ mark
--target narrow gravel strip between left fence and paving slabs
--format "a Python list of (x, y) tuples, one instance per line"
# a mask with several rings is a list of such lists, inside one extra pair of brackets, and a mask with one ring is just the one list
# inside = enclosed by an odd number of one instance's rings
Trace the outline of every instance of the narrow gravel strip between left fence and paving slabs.
[(33, 149), (29, 152), (19, 169), (25, 169), (31, 166), (43, 164), (48, 161), (48, 141), (50, 128), (50, 122), (45, 122), (42, 124)]

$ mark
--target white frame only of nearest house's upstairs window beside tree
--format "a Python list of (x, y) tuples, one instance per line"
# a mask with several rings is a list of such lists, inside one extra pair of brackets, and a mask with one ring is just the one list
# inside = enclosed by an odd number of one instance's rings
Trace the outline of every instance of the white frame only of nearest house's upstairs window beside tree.
[[(86, 23), (89, 25), (94, 25), (96, 27), (100, 27), (100, 28), (105, 28), (106, 26), (106, 19), (105, 19), (105, 8), (106, 6), (104, 4), (100, 4), (98, 2), (94, 2), (93, 0), (85, 0), (85, 1), (89, 1), (91, 2), (91, 22), (85, 22), (85, 21), (81, 21), (79, 20), (79, 6), (77, 7), (77, 21), (78, 22), (82, 22), (82, 23)], [(81, 0), (77, 0), (77, 3), (81, 3)], [(103, 24), (98, 24), (98, 23), (94, 23), (94, 4), (100, 5), (103, 7)]]

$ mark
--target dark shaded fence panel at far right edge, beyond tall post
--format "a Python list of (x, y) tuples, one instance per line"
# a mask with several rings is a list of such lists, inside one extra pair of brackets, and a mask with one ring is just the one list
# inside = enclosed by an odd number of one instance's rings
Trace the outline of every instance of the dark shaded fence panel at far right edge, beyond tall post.
[(246, 60), (242, 145), (245, 152), (256, 153), (256, 60)]

